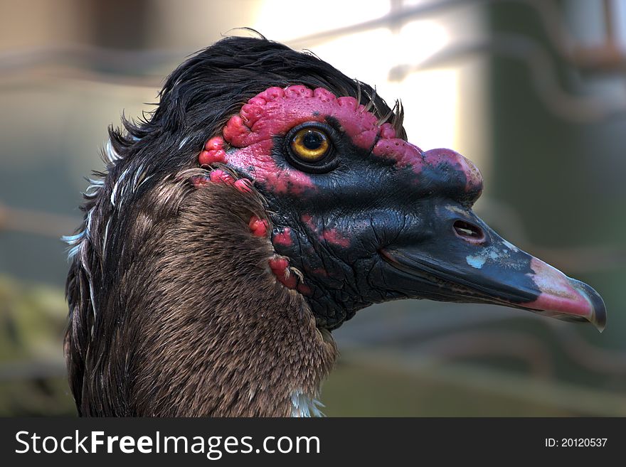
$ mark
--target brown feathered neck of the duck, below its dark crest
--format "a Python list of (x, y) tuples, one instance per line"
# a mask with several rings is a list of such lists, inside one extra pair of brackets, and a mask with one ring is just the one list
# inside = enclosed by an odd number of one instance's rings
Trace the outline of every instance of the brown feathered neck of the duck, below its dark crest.
[[(80, 414), (315, 414), (336, 358), (303, 297), (276, 280), (258, 193), (166, 177), (81, 239), (66, 338)], [(129, 174), (136, 179), (137, 174)], [(109, 213), (108, 193), (91, 214)], [(102, 228), (98, 228), (102, 226)], [(85, 242), (87, 242), (85, 244)], [(105, 245), (102, 245), (102, 244)]]

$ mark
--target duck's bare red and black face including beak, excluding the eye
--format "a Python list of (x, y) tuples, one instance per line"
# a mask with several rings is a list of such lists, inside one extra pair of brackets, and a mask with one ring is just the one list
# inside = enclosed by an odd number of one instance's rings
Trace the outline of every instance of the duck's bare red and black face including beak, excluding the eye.
[[(304, 163), (297, 129), (324, 131), (331, 152)], [(278, 279), (307, 297), (318, 326), (392, 299), (483, 302), (605, 326), (590, 286), (499, 237), (472, 212), (474, 165), (449, 149), (396, 137), (353, 97), (270, 87), (233, 116), (200, 155), (248, 178), (268, 203), (277, 254), (302, 273)], [(217, 177), (219, 178), (219, 177)], [(216, 178), (216, 179), (217, 179)]]

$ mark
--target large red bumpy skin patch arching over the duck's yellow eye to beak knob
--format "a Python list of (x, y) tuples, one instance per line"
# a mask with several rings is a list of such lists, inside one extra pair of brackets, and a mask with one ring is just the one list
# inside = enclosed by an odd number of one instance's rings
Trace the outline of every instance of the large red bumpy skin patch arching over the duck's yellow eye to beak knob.
[[(311, 90), (301, 85), (284, 90), (270, 87), (248, 100), (239, 114), (228, 120), (223, 139), (215, 136), (206, 142), (199, 161), (201, 164), (226, 162), (251, 173), (255, 181), (277, 194), (299, 195), (315, 190), (309, 174), (277, 166), (271, 155), (272, 138), (285, 136), (297, 124), (326, 122), (329, 117), (339, 122), (353, 144), (363, 149), (373, 147), (374, 156), (394, 159), (398, 166), (411, 166), (415, 173), (420, 173), (425, 165), (448, 164), (465, 173), (466, 191), (482, 186), (478, 169), (455, 151), (437, 149), (424, 153), (418, 146), (396, 138), (391, 124), (377, 124), (378, 117), (366, 112), (354, 97), (336, 97), (324, 88)], [(238, 149), (226, 153), (225, 142)]]

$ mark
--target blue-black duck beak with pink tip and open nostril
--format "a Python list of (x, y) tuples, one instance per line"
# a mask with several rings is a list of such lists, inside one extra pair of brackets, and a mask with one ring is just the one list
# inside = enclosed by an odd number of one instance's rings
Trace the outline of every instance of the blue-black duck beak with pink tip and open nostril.
[(512, 306), (589, 321), (603, 331), (606, 307), (598, 292), (506, 242), (471, 211), (466, 214), (442, 221), (446, 228), (419, 245), (403, 241), (381, 249), (385, 283), (411, 298)]

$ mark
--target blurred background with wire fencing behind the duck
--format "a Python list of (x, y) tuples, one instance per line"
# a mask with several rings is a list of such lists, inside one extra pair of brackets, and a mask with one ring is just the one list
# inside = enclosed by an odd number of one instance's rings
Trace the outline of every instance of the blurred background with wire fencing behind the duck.
[(477, 213), (588, 282), (608, 327), (498, 306), (360, 311), (324, 412), (626, 416), (626, 0), (0, 0), (0, 415), (75, 414), (66, 248), (109, 124), (248, 26), (405, 106), (409, 139), (481, 168)]

